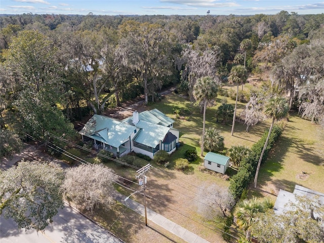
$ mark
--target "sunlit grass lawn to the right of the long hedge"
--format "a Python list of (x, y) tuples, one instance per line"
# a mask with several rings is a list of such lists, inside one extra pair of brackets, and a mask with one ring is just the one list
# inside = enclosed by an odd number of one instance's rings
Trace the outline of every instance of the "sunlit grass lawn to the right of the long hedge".
[(253, 194), (275, 200), (280, 189), (293, 192), (296, 184), (324, 192), (323, 134), (318, 125), (290, 115), (266, 163), (261, 166)]

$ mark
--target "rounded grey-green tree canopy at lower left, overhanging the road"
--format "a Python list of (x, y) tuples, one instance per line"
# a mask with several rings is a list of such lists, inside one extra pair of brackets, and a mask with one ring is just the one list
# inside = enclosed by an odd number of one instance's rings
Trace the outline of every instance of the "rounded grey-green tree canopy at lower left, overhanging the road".
[(20, 161), (0, 172), (0, 214), (18, 228), (44, 230), (63, 208), (63, 180), (62, 169), (55, 165)]

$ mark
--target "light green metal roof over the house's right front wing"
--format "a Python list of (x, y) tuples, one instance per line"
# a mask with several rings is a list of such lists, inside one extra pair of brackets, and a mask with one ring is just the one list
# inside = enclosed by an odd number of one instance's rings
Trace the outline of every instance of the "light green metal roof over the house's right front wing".
[(140, 120), (136, 126), (141, 128), (141, 131), (134, 141), (153, 148), (159, 144), (160, 140), (164, 139), (170, 129), (144, 120)]

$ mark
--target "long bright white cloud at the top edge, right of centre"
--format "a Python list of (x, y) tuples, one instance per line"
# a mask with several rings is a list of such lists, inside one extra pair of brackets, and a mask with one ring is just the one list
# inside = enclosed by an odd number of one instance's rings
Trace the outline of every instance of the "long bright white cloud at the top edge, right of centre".
[(236, 3), (225, 2), (217, 3), (215, 0), (159, 0), (161, 3), (180, 4), (190, 7), (208, 7), (208, 8), (222, 8), (222, 7), (237, 7)]

